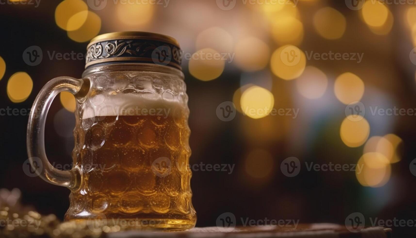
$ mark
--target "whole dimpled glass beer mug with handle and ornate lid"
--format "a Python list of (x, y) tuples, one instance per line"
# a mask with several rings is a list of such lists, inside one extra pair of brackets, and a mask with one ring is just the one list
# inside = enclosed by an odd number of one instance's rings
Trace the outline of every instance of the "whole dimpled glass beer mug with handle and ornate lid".
[[(71, 190), (65, 220), (100, 216), (106, 225), (122, 226), (114, 221), (125, 219), (133, 228), (195, 226), (191, 171), (183, 166), (191, 150), (180, 65), (181, 51), (171, 37), (108, 33), (87, 46), (82, 79), (58, 77), (42, 88), (30, 113), (27, 151), (43, 180)], [(76, 99), (68, 171), (50, 164), (44, 141), (47, 112), (63, 91)]]

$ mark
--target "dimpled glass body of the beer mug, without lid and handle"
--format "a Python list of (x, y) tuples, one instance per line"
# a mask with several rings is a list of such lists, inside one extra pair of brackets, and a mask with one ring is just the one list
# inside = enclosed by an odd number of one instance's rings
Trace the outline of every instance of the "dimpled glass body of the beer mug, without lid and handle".
[[(76, 95), (72, 155), (81, 179), (65, 220), (101, 214), (156, 229), (194, 227), (191, 171), (183, 166), (191, 150), (181, 71), (122, 63), (90, 67), (83, 78), (90, 89), (83, 98)], [(138, 108), (155, 110), (149, 115)]]

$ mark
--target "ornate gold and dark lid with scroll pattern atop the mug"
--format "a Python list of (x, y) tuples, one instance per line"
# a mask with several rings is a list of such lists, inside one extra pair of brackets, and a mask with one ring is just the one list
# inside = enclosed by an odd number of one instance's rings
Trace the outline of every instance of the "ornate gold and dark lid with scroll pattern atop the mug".
[(108, 62), (136, 62), (181, 68), (182, 51), (167, 35), (125, 31), (99, 35), (87, 46), (85, 68)]

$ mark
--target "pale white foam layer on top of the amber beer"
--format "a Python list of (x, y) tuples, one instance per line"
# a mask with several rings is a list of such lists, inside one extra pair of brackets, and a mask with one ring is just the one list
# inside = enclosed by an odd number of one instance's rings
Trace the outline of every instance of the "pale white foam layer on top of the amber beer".
[(161, 115), (166, 118), (176, 110), (184, 110), (185, 106), (178, 99), (155, 94), (97, 95), (82, 104), (82, 119), (117, 115)]

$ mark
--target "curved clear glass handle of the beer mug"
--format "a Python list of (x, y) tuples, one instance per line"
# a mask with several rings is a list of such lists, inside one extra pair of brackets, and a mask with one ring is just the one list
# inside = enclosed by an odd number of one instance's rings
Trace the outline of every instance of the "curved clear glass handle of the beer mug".
[(37, 95), (27, 123), (27, 155), (35, 173), (54, 185), (76, 190), (81, 183), (81, 173), (75, 168), (58, 170), (46, 157), (45, 122), (46, 115), (54, 98), (60, 92), (69, 92), (76, 97), (84, 97), (89, 91), (89, 80), (71, 77), (57, 77), (50, 80)]

